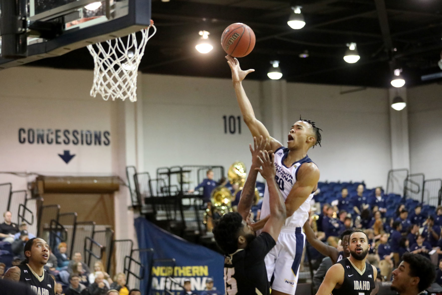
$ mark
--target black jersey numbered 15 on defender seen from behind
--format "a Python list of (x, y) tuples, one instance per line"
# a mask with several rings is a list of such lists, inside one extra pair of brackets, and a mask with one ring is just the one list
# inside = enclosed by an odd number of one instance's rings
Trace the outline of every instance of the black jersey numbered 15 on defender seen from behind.
[(264, 257), (276, 245), (270, 234), (263, 232), (245, 249), (225, 256), (224, 283), (227, 295), (268, 295)]

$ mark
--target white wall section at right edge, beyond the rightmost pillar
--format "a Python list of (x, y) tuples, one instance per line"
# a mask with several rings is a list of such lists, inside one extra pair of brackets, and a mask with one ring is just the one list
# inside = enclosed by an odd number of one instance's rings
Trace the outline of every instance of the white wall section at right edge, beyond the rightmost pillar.
[(408, 129), (412, 173), (442, 178), (442, 85), (408, 89)]

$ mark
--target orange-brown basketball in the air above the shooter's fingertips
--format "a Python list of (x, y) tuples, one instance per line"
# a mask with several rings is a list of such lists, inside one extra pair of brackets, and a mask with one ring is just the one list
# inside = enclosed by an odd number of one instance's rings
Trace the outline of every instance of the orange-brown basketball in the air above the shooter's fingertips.
[(221, 46), (232, 57), (244, 57), (255, 47), (255, 33), (244, 23), (232, 23), (221, 36)]

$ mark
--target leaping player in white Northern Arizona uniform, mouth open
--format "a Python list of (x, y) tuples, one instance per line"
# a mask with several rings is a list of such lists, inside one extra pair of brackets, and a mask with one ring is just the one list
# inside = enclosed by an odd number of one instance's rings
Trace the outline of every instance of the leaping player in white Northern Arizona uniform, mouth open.
[[(287, 219), (274, 248), (267, 254), (265, 264), (267, 279), (271, 282), (272, 295), (294, 295), (305, 235), (302, 226), (309, 218), (310, 200), (317, 189), (319, 169), (307, 155), (310, 147), (321, 144), (321, 129), (315, 122), (301, 119), (290, 127), (287, 147), (270, 136), (255, 113), (242, 86), (242, 80), (254, 70), (241, 70), (236, 58), (226, 56), (232, 70), (232, 82), (244, 122), (252, 136), (267, 140), (267, 151), (274, 151), (276, 183), (285, 199)], [(262, 229), (270, 217), (269, 190), (266, 184), (261, 220), (252, 225)], [(229, 294), (234, 295), (234, 294)]]

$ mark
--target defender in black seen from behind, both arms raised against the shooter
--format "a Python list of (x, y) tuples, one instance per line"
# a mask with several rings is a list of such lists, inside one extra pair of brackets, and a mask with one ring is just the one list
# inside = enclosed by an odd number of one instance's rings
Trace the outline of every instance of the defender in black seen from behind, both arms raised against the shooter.
[[(284, 198), (276, 185), (274, 155), (264, 151), (267, 140), (260, 137), (259, 144), (253, 139), (255, 150), (250, 147), (252, 164), (238, 204), (238, 212), (223, 215), (213, 227), (213, 236), (225, 253), (224, 282), (229, 295), (268, 295), (264, 258), (276, 245), (276, 240), (286, 220)], [(262, 167), (261, 169), (259, 167)], [(262, 233), (256, 233), (249, 225), (249, 212), (255, 194), (258, 171), (267, 181), (269, 189), (270, 217)]]

